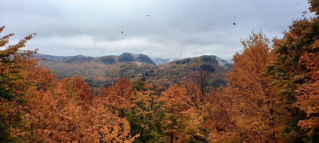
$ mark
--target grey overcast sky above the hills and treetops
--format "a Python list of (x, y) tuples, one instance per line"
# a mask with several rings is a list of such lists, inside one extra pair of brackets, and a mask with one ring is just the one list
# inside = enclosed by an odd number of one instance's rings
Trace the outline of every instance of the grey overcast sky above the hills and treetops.
[(131, 52), (231, 59), (242, 49), (240, 38), (253, 29), (282, 37), (293, 19), (309, 11), (307, 0), (1, 0), (0, 5), (0, 26), (6, 26), (1, 36), (14, 32), (12, 44), (38, 31), (25, 49), (93, 57)]

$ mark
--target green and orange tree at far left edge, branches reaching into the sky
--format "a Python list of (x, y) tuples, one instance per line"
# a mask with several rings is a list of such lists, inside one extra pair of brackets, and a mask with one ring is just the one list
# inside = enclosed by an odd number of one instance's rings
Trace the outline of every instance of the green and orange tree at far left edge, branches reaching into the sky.
[[(0, 33), (4, 30), (0, 28)], [(21, 114), (23, 106), (27, 100), (25, 96), (28, 89), (41, 89), (48, 86), (48, 81), (55, 78), (50, 71), (44, 70), (42, 66), (36, 66), (39, 59), (33, 59), (33, 53), (29, 50), (20, 50), (25, 47), (28, 40), (32, 39), (35, 33), (21, 39), (18, 44), (8, 45), (10, 37), (14, 34), (8, 34), (0, 37), (0, 47), (6, 47), (0, 50), (0, 135), (4, 141), (10, 141), (11, 130), (23, 126)]]

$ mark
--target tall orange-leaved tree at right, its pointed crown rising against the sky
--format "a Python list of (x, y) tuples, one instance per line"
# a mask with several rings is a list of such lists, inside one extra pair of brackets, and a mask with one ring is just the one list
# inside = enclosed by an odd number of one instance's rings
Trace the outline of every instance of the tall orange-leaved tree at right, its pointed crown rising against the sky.
[(226, 95), (232, 100), (233, 121), (241, 141), (278, 140), (288, 118), (280, 106), (278, 90), (264, 73), (274, 60), (262, 31), (242, 40), (243, 51), (233, 56), (233, 71), (226, 74)]

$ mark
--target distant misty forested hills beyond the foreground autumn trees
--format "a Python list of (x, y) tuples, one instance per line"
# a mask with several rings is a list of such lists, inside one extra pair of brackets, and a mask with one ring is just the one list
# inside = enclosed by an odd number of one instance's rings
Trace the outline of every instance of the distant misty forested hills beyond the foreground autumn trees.
[[(128, 58), (125, 57), (127, 55)], [(52, 70), (52, 73), (57, 73), (58, 78), (82, 76), (94, 88), (98, 88), (100, 85), (110, 85), (113, 80), (119, 79), (121, 76), (131, 79), (142, 77), (144, 81), (150, 79), (153, 82), (166, 82), (167, 86), (174, 83), (180, 84), (181, 80), (191, 79), (200, 70), (209, 71), (212, 75), (209, 83), (218, 87), (226, 84), (224, 74), (231, 69), (228, 62), (216, 56), (206, 55), (176, 60), (163, 65), (153, 65), (149, 64), (153, 63), (149, 61), (150, 58), (134, 61), (130, 55), (130, 53), (123, 53), (119, 57), (103, 56), (97, 58), (78, 55), (60, 61), (41, 61), (39, 64)], [(143, 55), (142, 57), (148, 56)]]

